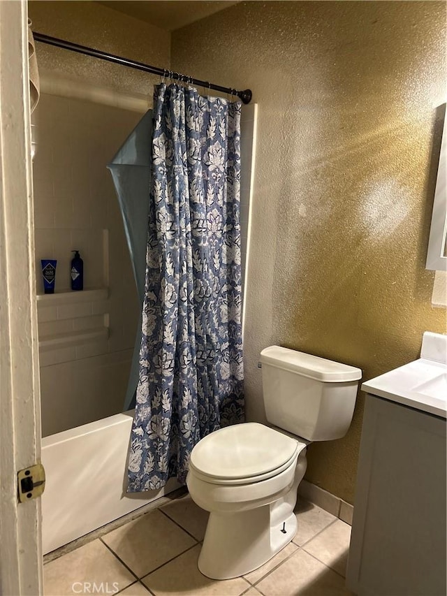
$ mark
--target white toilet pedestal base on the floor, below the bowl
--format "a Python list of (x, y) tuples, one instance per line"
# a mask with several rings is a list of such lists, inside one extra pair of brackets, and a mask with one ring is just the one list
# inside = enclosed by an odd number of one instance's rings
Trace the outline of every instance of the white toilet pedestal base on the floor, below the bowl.
[(211, 579), (240, 577), (264, 565), (293, 539), (297, 530), (295, 514), (272, 521), (275, 503), (241, 511), (211, 513), (198, 568)]

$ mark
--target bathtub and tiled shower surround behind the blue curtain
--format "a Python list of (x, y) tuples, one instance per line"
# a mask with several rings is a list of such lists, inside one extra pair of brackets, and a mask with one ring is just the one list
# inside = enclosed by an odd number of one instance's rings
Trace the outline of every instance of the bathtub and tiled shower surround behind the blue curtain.
[[(35, 112), (34, 222), (41, 366), (43, 551), (48, 553), (178, 488), (126, 493), (133, 411), (122, 412), (140, 304), (122, 213), (107, 170), (150, 106), (47, 75)], [(242, 108), (242, 275), (247, 258), (256, 104)], [(71, 250), (84, 287), (70, 289)], [(44, 294), (41, 259), (57, 259)]]

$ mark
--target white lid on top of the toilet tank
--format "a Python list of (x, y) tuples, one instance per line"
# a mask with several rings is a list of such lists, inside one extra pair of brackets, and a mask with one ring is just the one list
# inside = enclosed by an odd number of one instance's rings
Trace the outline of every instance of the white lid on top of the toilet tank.
[(312, 354), (270, 346), (261, 351), (261, 363), (269, 364), (284, 370), (291, 370), (303, 377), (324, 381), (325, 383), (342, 383), (344, 381), (358, 381), (362, 371), (355, 366), (349, 366)]

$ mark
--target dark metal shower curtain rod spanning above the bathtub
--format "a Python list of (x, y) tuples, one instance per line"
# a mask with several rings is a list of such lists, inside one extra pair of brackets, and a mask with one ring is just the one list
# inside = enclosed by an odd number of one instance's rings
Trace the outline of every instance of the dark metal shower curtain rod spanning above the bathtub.
[(79, 54), (85, 54), (86, 56), (107, 60), (109, 62), (114, 62), (115, 64), (121, 64), (122, 66), (129, 66), (129, 68), (136, 68), (138, 71), (145, 71), (146, 73), (173, 78), (182, 82), (193, 83), (193, 85), (199, 85), (200, 87), (205, 87), (207, 89), (215, 89), (216, 91), (220, 91), (222, 93), (230, 93), (231, 95), (236, 95), (239, 97), (242, 100), (242, 103), (250, 103), (251, 101), (250, 89), (237, 91), (236, 89), (231, 89), (230, 87), (221, 87), (221, 85), (213, 85), (208, 81), (193, 79), (186, 75), (182, 75), (182, 73), (174, 73), (173, 71), (168, 71), (166, 68), (157, 68), (156, 66), (150, 66), (149, 64), (143, 64), (142, 62), (136, 62), (127, 58), (115, 56), (115, 54), (101, 52), (101, 50), (87, 48), (86, 45), (78, 45), (78, 43), (65, 41), (64, 39), (58, 39), (57, 37), (50, 37), (49, 35), (42, 33), (34, 33), (34, 31), (33, 35), (36, 41), (47, 43), (48, 45), (55, 45), (57, 48), (64, 48), (64, 50), (71, 50), (72, 52), (78, 52)]

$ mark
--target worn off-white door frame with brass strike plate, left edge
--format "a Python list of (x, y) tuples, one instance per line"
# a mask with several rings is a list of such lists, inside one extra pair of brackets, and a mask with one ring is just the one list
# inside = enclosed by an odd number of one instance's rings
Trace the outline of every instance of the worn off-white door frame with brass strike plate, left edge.
[(0, 0), (0, 593), (43, 593), (41, 499), (17, 472), (41, 459), (27, 1)]

